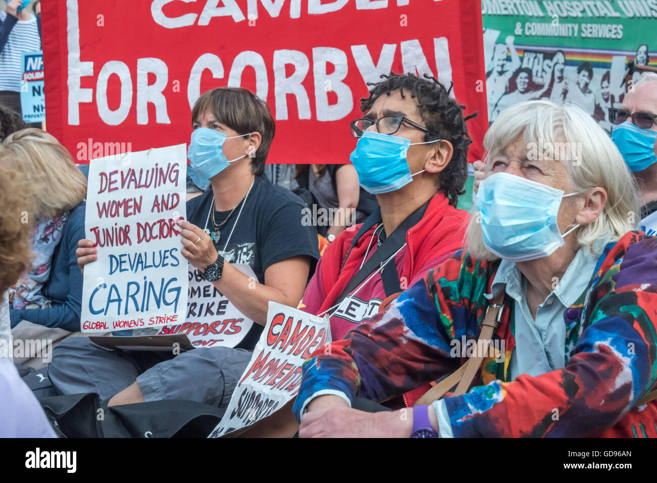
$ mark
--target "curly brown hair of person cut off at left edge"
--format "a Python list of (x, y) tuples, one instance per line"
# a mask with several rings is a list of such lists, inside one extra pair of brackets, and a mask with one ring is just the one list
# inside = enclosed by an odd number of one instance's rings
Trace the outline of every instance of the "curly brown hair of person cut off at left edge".
[(0, 153), (0, 298), (31, 268), (30, 222), (34, 191), (38, 191), (7, 164), (6, 155)]

